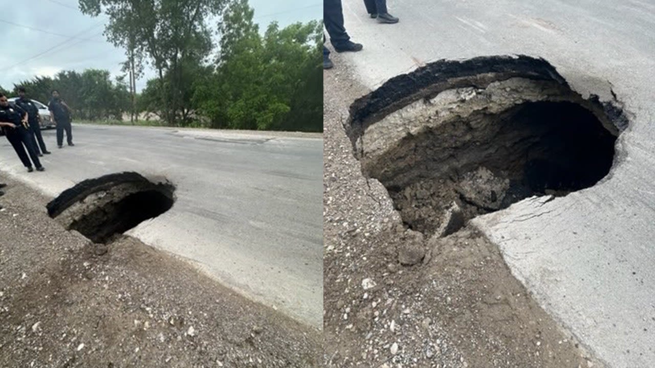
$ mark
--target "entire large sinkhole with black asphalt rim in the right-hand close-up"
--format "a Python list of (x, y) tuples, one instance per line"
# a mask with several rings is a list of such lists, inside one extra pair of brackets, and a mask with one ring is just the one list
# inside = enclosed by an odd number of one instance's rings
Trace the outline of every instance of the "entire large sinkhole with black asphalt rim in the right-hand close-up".
[(627, 127), (619, 105), (583, 98), (542, 59), (441, 60), (356, 100), (345, 128), (403, 222), (445, 235), (529, 196), (595, 185)]

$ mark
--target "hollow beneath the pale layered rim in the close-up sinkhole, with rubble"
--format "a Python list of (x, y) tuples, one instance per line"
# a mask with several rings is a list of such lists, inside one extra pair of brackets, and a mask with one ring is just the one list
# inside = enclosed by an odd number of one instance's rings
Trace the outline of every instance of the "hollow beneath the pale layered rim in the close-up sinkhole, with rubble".
[(382, 182), (405, 224), (431, 234), (453, 202), (466, 220), (535, 194), (595, 185), (612, 167), (615, 141), (576, 103), (523, 103), (406, 137), (392, 155), (413, 164), (396, 164)]

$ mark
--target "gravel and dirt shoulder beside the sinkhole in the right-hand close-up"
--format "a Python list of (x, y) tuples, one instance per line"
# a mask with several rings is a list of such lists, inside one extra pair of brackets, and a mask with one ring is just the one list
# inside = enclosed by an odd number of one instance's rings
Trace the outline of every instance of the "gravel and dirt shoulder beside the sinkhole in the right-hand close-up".
[(324, 72), (326, 367), (603, 367), (476, 229), (431, 240), (405, 229), (386, 189), (362, 175), (343, 129), (348, 105), (369, 91), (332, 58)]

